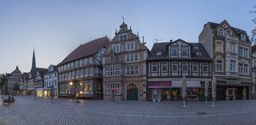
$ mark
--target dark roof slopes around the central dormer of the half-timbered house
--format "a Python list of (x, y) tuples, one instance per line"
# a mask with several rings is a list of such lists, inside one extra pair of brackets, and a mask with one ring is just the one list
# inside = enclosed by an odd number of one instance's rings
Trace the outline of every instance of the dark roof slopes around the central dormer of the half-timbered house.
[[(170, 42), (162, 42), (162, 43), (155, 43), (151, 49), (151, 52), (147, 58), (147, 60), (158, 60), (158, 59), (197, 59), (197, 60), (212, 60), (208, 55), (207, 51), (205, 50), (202, 43), (191, 43), (192, 50), (191, 50), (191, 57), (190, 58), (181, 58), (181, 57), (167, 57), (167, 45)], [(199, 49), (195, 49), (194, 47), (197, 46)], [(161, 55), (157, 55), (157, 52), (162, 52)], [(201, 52), (202, 56), (197, 56), (196, 52)]]

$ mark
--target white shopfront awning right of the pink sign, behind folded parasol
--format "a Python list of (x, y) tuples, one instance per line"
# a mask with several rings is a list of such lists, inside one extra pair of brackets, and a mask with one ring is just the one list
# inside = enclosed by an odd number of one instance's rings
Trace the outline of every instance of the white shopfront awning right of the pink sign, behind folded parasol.
[[(181, 88), (182, 81), (172, 81), (172, 88)], [(200, 81), (187, 81), (187, 88), (201, 88)]]

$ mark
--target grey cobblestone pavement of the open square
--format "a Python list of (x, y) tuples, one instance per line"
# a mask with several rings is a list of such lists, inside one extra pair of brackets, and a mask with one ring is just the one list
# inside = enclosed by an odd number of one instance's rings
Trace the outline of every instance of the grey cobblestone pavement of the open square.
[[(2, 95), (0, 95), (2, 96)], [(201, 101), (77, 100), (15, 96), (0, 105), (0, 124), (256, 124), (256, 100)], [(1, 98), (2, 102), (2, 98)], [(198, 113), (201, 112), (201, 113)]]

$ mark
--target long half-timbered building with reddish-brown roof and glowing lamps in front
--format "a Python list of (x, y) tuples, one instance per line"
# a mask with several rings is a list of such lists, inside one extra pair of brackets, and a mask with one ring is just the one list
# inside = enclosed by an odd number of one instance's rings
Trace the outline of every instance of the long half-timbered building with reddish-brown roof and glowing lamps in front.
[(109, 39), (102, 37), (80, 45), (57, 65), (59, 97), (79, 94), (83, 98), (102, 99), (102, 54), (108, 43)]

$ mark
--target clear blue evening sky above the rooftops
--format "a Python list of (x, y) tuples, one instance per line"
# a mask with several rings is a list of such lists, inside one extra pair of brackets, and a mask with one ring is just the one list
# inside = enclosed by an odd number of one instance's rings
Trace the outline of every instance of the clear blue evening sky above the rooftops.
[(178, 38), (198, 42), (205, 23), (227, 20), (248, 35), (256, 1), (0, 1), (0, 73), (16, 66), (29, 72), (33, 46), (36, 67), (57, 65), (80, 43), (114, 37), (125, 23), (144, 36), (151, 50), (153, 39)]

